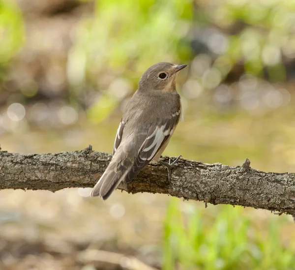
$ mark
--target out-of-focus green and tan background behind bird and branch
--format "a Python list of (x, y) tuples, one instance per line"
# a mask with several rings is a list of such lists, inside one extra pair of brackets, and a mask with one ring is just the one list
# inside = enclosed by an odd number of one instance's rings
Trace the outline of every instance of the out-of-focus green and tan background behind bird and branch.
[[(189, 64), (164, 154), (295, 171), (294, 0), (0, 0), (2, 150), (111, 152), (159, 61)], [(290, 216), (85, 193), (1, 190), (0, 269), (295, 269)]]

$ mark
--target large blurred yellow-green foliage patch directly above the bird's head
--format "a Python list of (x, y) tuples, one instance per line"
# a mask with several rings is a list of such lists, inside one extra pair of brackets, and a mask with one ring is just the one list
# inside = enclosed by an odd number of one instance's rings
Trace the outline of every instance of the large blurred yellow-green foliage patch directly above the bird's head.
[(191, 6), (192, 0), (96, 1), (94, 18), (77, 29), (67, 65), (73, 89), (90, 84), (102, 93), (103, 103), (89, 109), (91, 120), (103, 120), (120, 101), (104, 91), (108, 85), (101, 78), (123, 76), (136, 89), (148, 66), (191, 59), (189, 41), (180, 42), (190, 27)]

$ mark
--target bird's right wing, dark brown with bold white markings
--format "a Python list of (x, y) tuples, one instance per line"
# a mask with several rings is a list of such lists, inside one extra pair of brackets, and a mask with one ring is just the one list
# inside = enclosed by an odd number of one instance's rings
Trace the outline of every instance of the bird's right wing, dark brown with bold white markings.
[(155, 156), (164, 143), (173, 134), (179, 121), (180, 111), (170, 118), (157, 120), (148, 129), (147, 138), (142, 144), (135, 158), (133, 166), (126, 176), (126, 183), (130, 182)]

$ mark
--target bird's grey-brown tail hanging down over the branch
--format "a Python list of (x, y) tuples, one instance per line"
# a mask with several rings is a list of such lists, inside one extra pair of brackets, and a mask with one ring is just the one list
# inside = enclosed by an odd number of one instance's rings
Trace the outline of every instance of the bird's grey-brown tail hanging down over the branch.
[(103, 200), (109, 198), (119, 183), (125, 180), (131, 167), (131, 160), (126, 158), (124, 153), (119, 153), (117, 150), (108, 168), (93, 187), (90, 196), (100, 196)]

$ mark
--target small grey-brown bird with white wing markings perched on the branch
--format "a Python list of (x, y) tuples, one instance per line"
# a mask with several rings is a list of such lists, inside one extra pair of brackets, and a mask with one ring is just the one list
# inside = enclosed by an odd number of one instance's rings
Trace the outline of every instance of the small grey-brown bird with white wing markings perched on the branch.
[(186, 66), (159, 62), (144, 72), (119, 123), (112, 160), (90, 197), (108, 199), (120, 182), (129, 183), (151, 160), (167, 167), (170, 180), (180, 156), (173, 163), (160, 157), (181, 120), (176, 78)]

